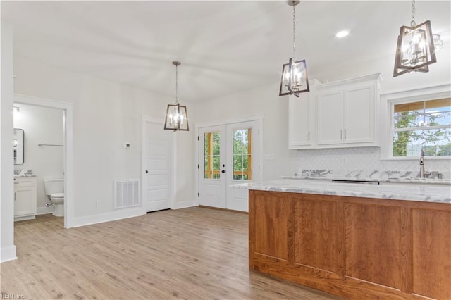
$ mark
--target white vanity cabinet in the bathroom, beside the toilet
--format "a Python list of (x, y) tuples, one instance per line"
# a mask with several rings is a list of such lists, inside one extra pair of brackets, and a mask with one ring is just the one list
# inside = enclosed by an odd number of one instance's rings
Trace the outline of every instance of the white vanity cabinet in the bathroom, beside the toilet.
[(14, 220), (34, 219), (36, 199), (36, 177), (14, 177)]

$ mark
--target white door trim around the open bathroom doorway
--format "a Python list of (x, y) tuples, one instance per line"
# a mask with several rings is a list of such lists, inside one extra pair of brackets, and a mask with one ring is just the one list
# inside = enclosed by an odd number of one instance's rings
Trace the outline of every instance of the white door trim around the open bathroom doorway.
[(64, 228), (73, 227), (73, 104), (14, 94), (14, 103), (60, 108), (64, 123)]

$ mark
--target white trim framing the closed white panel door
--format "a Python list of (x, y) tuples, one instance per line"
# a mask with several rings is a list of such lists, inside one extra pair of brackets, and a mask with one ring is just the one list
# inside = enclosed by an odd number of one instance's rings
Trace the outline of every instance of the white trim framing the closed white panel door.
[[(145, 177), (145, 171), (146, 171), (146, 166), (144, 164), (144, 161), (146, 161), (146, 151), (147, 151), (147, 147), (146, 147), (146, 137), (147, 137), (147, 130), (146, 130), (146, 125), (147, 123), (152, 123), (152, 124), (156, 124), (156, 125), (161, 125), (161, 130), (163, 130), (163, 124), (164, 124), (164, 119), (161, 118), (154, 118), (154, 117), (149, 117), (147, 115), (142, 115), (142, 151), (141, 151), (141, 208), (142, 208), (142, 213), (146, 213), (146, 208), (144, 207), (144, 196), (146, 194), (146, 185), (144, 185), (144, 177)], [(177, 170), (176, 168), (176, 159), (175, 159), (175, 154), (176, 154), (176, 149), (177, 149), (177, 139), (175, 139), (175, 134), (172, 136), (172, 145), (173, 145), (173, 149), (172, 149), (172, 170), (171, 170), (171, 189), (169, 190), (169, 196), (171, 198), (171, 209), (175, 208), (175, 185), (177, 184), (177, 177), (175, 176), (175, 170)]]

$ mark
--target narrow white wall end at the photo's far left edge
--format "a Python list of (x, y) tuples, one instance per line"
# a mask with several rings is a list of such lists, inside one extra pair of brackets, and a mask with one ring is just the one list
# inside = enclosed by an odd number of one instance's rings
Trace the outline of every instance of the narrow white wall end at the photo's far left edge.
[(16, 259), (13, 189), (13, 28), (1, 22), (0, 261)]

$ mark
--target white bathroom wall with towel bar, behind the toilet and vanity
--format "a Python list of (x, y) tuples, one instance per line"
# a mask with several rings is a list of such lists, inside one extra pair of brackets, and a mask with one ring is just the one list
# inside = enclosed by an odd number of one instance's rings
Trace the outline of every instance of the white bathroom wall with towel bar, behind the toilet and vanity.
[(24, 131), (24, 163), (14, 165), (15, 170), (31, 169), (37, 176), (37, 214), (53, 212), (53, 206), (44, 192), (44, 180), (63, 178), (64, 152), (62, 146), (38, 144), (64, 144), (63, 110), (27, 104), (14, 104), (14, 128)]

